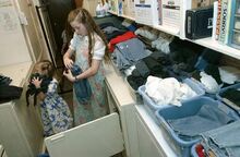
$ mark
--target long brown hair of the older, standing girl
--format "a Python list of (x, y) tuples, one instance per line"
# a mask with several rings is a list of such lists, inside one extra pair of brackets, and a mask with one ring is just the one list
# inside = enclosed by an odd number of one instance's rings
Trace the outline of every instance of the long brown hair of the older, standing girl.
[(82, 23), (87, 31), (88, 36), (88, 63), (91, 65), (92, 63), (92, 50), (95, 44), (95, 40), (93, 40), (94, 33), (96, 33), (104, 41), (106, 49), (105, 49), (105, 56), (104, 60), (108, 62), (110, 60), (109, 52), (108, 52), (108, 41), (104, 35), (104, 33), (100, 31), (98, 25), (94, 22), (94, 19), (89, 14), (89, 12), (83, 8), (75, 9), (69, 13), (68, 22), (71, 23), (73, 21), (77, 21), (79, 23)]

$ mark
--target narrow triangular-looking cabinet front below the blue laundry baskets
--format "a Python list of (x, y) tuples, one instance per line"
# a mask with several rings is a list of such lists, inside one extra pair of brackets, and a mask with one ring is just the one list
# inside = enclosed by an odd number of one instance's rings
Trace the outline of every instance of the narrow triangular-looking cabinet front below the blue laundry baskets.
[(141, 157), (161, 157), (155, 141), (152, 138), (141, 118), (136, 114), (139, 149)]

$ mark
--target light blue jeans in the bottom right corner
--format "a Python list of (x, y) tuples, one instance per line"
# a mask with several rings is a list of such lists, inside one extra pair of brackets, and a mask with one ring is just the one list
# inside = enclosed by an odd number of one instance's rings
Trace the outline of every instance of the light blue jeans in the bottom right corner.
[(240, 121), (211, 130), (202, 134), (204, 149), (209, 149), (217, 157), (239, 157), (240, 155)]

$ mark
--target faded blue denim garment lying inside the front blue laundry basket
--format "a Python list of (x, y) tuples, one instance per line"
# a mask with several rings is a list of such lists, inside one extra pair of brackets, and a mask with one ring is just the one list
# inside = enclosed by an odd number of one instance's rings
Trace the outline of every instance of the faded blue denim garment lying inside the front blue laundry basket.
[[(228, 108), (226, 108), (226, 110)], [(168, 123), (179, 135), (193, 137), (199, 136), (200, 133), (219, 128), (236, 120), (226, 112), (219, 107), (216, 108), (215, 106), (206, 104), (202, 106), (196, 114), (168, 120)]]

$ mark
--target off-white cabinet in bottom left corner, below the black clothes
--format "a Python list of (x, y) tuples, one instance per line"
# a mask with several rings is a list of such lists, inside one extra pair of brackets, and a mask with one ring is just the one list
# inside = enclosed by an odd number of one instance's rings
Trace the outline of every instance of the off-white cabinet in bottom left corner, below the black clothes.
[(20, 101), (0, 105), (0, 142), (9, 157), (34, 157), (43, 146), (43, 130), (35, 108)]

